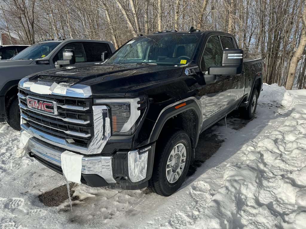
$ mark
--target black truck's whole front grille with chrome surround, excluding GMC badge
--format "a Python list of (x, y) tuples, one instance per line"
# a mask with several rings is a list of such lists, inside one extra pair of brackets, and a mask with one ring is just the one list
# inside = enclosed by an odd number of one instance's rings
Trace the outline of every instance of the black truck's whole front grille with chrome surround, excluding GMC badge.
[[(29, 106), (27, 98), (54, 102), (56, 113)], [(49, 144), (83, 154), (98, 154), (110, 137), (110, 109), (93, 106), (91, 98), (37, 95), (19, 89), (18, 99), (21, 128)]]

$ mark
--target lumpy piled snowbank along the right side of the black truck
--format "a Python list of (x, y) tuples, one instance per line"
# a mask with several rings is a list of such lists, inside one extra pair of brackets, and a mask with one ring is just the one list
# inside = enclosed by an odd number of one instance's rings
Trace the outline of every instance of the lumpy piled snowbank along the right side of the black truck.
[(227, 164), (196, 228), (306, 228), (306, 90), (264, 84), (259, 100), (290, 113), (243, 162)]

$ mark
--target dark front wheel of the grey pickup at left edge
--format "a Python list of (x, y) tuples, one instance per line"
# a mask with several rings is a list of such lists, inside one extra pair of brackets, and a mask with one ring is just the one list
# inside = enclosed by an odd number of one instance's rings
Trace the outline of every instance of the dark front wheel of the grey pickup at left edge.
[(21, 130), (20, 109), (18, 104), (18, 97), (13, 96), (6, 105), (6, 122), (15, 130)]

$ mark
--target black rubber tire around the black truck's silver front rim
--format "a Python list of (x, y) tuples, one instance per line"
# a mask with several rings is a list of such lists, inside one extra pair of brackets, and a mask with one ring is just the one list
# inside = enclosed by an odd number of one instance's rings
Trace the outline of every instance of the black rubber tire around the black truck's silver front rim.
[[(162, 135), (159, 139), (160, 140), (158, 140), (156, 144), (154, 168), (153, 168), (152, 177), (149, 180), (149, 188), (153, 192), (159, 195), (170, 196), (181, 187), (181, 185), (185, 180), (190, 165), (191, 144), (187, 134), (184, 131), (178, 129), (174, 129), (173, 131), (167, 132), (166, 134)], [(174, 147), (176, 146), (182, 147), (182, 145), (184, 145), (186, 149), (186, 152), (184, 152), (186, 153), (185, 166), (180, 167), (180, 165), (177, 166), (175, 166), (176, 164), (174, 165), (173, 169), (176, 167), (177, 170), (180, 170), (180, 168), (183, 170), (181, 172), (181, 175), (178, 177), (178, 179), (175, 182), (170, 183), (168, 181), (169, 178), (167, 178), (166, 175), (167, 162), (168, 159), (170, 158), (171, 151), (174, 149)], [(178, 154), (179, 153), (177, 153), (177, 155)], [(183, 161), (181, 159), (182, 158), (181, 156), (175, 158), (179, 158), (180, 161), (179, 163)], [(175, 161), (178, 162), (177, 159), (175, 159)], [(171, 171), (173, 170), (171, 169)], [(172, 173), (171, 171), (170, 173)]]

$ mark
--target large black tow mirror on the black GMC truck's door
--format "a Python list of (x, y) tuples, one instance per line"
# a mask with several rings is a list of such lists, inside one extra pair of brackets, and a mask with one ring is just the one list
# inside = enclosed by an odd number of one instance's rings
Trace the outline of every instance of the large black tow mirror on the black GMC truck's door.
[(240, 75), (242, 73), (243, 50), (223, 49), (222, 66), (211, 66), (208, 68), (208, 75)]

